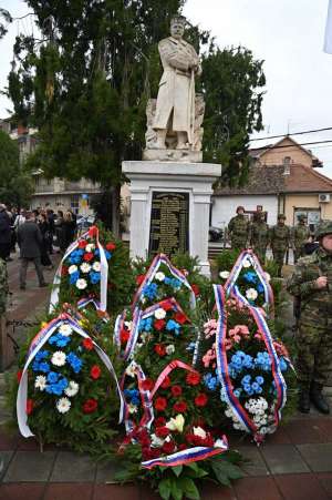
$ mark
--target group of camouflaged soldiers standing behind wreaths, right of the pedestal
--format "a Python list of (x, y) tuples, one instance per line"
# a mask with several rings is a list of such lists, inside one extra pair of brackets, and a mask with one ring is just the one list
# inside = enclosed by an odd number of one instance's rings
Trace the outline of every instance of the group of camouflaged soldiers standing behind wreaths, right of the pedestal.
[(245, 215), (245, 207), (237, 207), (237, 215), (228, 224), (228, 236), (232, 248), (238, 251), (251, 247), (263, 264), (267, 249), (271, 248), (273, 261), (278, 265), (278, 275), (281, 269), (284, 256), (291, 247), (294, 253), (294, 264), (300, 257), (310, 254), (317, 248), (314, 237), (311, 235), (304, 215), (299, 216), (298, 224), (291, 228), (286, 225), (284, 214), (278, 215), (278, 223), (269, 227), (266, 222), (266, 213), (258, 210), (252, 221)]

